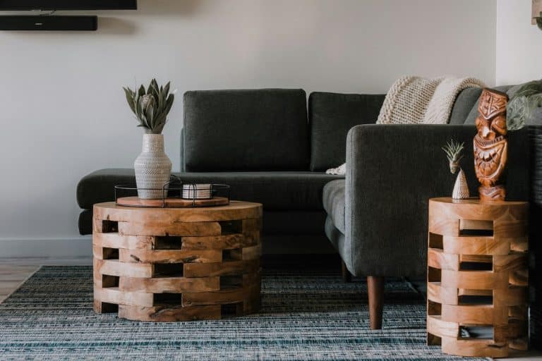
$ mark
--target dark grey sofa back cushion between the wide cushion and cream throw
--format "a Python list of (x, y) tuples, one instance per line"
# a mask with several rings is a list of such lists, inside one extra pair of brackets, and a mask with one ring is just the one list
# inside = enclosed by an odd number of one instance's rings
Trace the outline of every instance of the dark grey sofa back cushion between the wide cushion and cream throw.
[(346, 161), (348, 131), (376, 123), (385, 94), (313, 92), (308, 98), (311, 171), (325, 171)]

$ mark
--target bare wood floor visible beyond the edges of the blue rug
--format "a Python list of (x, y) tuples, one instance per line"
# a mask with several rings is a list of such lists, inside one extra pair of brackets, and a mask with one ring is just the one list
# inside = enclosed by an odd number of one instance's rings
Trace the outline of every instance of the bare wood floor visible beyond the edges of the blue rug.
[[(4, 301), (8, 295), (16, 290), (21, 283), (40, 268), (42, 264), (52, 265), (82, 265), (92, 264), (92, 260), (88, 258), (82, 259), (1, 259), (0, 258), (0, 303)], [(416, 285), (415, 285), (416, 286)], [(418, 285), (419, 286), (419, 285)], [(512, 357), (502, 360), (507, 361), (525, 361), (537, 360), (542, 361), (542, 353), (537, 350), (531, 350), (527, 353), (513, 353)]]

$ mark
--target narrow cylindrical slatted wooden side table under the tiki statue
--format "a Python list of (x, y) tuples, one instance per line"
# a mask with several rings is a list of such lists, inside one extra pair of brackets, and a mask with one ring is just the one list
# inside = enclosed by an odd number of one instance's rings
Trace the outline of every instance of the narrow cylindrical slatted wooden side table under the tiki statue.
[(427, 342), (507, 357), (528, 336), (527, 202), (429, 200)]

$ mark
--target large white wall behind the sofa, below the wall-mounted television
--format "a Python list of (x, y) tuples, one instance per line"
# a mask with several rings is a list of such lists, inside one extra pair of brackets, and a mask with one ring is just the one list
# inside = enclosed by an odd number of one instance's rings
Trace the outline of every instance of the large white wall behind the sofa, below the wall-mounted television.
[[(140, 152), (122, 85), (385, 92), (404, 74), (491, 85), (495, 11), (493, 0), (140, 0), (99, 13), (95, 33), (0, 32), (0, 257), (80, 240), (78, 180)], [(164, 130), (174, 170), (180, 99)]]

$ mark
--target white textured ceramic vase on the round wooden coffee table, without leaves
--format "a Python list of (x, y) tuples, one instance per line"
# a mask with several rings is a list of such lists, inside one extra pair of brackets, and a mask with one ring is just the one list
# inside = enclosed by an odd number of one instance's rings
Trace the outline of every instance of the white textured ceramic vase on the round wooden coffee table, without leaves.
[(164, 152), (164, 135), (144, 134), (143, 149), (133, 163), (138, 197), (154, 200), (167, 197), (162, 188), (169, 182), (171, 161)]

